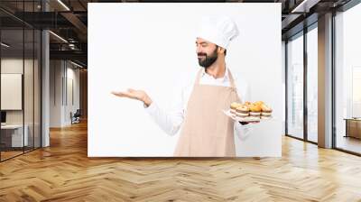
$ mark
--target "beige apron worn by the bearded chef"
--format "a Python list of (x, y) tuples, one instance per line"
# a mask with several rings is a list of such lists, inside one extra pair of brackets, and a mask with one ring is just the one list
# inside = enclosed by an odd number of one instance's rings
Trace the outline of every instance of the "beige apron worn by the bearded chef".
[(201, 72), (190, 94), (174, 156), (234, 157), (234, 121), (223, 110), (240, 100), (235, 81), (228, 69), (231, 87), (199, 85)]

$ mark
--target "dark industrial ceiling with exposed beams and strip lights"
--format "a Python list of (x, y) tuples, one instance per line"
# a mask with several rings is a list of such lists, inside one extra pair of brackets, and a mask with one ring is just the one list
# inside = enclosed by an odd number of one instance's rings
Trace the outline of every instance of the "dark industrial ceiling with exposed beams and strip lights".
[[(228, 0), (208, 1), (227, 3), (281, 3), (282, 4), (282, 39), (285, 40), (303, 29), (307, 23), (317, 21), (319, 14), (347, 4), (350, 0)], [(74, 60), (87, 66), (88, 51), (88, 3), (125, 3), (125, 2), (165, 2), (134, 0), (1, 0), (1, 26), (13, 37), (15, 43), (19, 38), (16, 29), (32, 27), (50, 29), (51, 59)], [(168, 1), (197, 2), (197, 1)], [(199, 1), (204, 2), (204, 1)], [(46, 12), (45, 12), (46, 11)], [(312, 20), (313, 19), (313, 20)], [(12, 34), (14, 32), (14, 34)], [(60, 37), (57, 37), (60, 36)], [(62, 39), (60, 39), (62, 38)], [(3, 38), (4, 39), (4, 38)], [(21, 40), (21, 39), (17, 39)], [(65, 41), (64, 41), (65, 40)], [(11, 40), (10, 40), (11, 41)], [(25, 44), (26, 46), (26, 44)]]

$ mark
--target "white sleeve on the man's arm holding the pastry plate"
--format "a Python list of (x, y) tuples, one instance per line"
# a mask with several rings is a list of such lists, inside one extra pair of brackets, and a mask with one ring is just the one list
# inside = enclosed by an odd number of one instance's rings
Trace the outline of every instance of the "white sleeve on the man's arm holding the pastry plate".
[[(241, 102), (249, 101), (250, 91), (245, 81), (236, 82), (237, 93), (240, 96)], [(240, 124), (235, 122), (235, 133), (240, 140), (243, 140), (252, 131), (252, 124)]]

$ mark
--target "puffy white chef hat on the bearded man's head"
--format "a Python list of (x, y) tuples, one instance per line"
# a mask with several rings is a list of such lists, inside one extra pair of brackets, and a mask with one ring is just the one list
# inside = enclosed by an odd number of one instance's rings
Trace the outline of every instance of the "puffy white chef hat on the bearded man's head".
[(229, 41), (239, 34), (236, 23), (226, 16), (206, 16), (199, 24), (197, 36), (227, 49)]

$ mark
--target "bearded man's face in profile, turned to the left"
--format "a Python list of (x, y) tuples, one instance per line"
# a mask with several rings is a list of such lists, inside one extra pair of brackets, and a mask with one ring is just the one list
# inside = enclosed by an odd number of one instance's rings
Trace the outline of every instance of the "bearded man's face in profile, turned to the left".
[(197, 55), (199, 66), (207, 69), (218, 58), (218, 47), (216, 44), (197, 38)]

